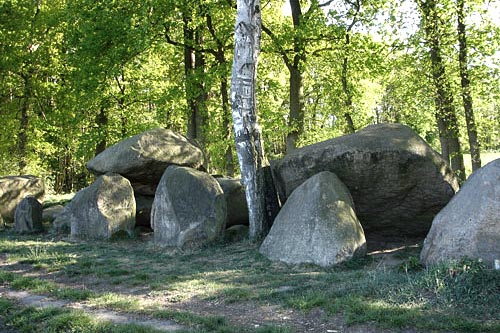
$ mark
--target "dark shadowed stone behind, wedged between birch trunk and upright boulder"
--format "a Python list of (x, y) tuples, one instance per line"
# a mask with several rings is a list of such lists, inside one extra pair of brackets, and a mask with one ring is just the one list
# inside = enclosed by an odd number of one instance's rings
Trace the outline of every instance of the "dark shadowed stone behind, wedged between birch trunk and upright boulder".
[(216, 178), (226, 199), (226, 228), (233, 225), (248, 225), (248, 206), (245, 189), (240, 179)]

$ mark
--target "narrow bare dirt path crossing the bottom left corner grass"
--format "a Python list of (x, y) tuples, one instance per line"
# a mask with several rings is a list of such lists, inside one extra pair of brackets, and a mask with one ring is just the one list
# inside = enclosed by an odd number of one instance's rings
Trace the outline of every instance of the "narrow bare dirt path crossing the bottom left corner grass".
[(37, 309), (48, 307), (79, 309), (90, 315), (92, 318), (101, 321), (109, 321), (114, 324), (136, 324), (149, 326), (154, 329), (163, 330), (166, 332), (173, 332), (184, 328), (170, 320), (134, 318), (127, 314), (118, 313), (115, 311), (93, 309), (92, 307), (82, 303), (55, 300), (47, 296), (33, 295), (26, 291), (16, 291), (5, 288), (3, 286), (0, 286), (0, 297), (12, 299), (23, 306), (34, 307)]

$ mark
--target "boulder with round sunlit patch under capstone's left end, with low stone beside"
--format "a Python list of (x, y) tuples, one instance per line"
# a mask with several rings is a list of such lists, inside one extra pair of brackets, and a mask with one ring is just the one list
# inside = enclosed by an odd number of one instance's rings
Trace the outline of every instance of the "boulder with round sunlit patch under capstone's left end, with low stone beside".
[(106, 240), (119, 231), (132, 234), (135, 199), (130, 182), (109, 173), (73, 197), (54, 221), (54, 231), (71, 231), (73, 239)]

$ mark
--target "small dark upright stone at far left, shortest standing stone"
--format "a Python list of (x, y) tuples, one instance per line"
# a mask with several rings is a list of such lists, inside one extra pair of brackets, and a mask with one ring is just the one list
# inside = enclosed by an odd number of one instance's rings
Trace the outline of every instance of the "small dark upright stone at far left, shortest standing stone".
[(32, 196), (21, 200), (14, 214), (14, 230), (20, 234), (43, 231), (42, 204)]

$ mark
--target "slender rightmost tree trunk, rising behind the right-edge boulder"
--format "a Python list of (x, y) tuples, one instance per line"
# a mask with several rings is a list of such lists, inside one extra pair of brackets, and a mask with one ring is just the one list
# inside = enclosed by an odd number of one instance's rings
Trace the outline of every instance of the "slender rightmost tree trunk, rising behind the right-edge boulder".
[(467, 125), (467, 135), (469, 137), (469, 150), (472, 161), (472, 171), (481, 167), (481, 153), (477, 139), (476, 120), (474, 118), (474, 109), (472, 106), (472, 96), (470, 89), (469, 68), (467, 66), (467, 37), (465, 34), (465, 0), (457, 0), (457, 32), (458, 32), (458, 62), (460, 66), (460, 83), (462, 86), (462, 102), (465, 111), (465, 122)]

